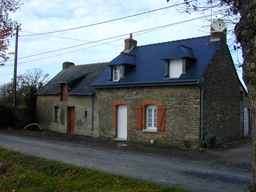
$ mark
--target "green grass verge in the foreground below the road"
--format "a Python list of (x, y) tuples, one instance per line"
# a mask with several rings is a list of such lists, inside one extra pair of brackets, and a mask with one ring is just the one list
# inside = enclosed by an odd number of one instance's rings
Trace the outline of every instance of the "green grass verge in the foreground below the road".
[(186, 192), (0, 148), (1, 192)]

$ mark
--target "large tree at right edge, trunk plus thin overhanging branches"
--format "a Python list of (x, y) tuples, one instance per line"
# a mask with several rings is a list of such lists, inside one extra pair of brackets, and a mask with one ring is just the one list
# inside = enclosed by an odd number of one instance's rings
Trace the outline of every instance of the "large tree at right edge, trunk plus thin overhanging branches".
[[(243, 79), (248, 89), (253, 141), (252, 181), (248, 189), (256, 191), (256, 0), (172, 0), (185, 2), (181, 12), (211, 12), (233, 26), (230, 33), (236, 37), (234, 50), (241, 50)], [(167, 0), (169, 2), (169, 0)]]

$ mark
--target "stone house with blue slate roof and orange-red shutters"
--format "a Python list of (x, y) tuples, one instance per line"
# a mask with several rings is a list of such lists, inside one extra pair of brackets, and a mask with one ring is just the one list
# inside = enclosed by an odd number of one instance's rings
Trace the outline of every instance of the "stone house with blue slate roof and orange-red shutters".
[(226, 34), (137, 46), (107, 63), (91, 84), (99, 99), (99, 136), (198, 146), (208, 133), (241, 138), (240, 96)]

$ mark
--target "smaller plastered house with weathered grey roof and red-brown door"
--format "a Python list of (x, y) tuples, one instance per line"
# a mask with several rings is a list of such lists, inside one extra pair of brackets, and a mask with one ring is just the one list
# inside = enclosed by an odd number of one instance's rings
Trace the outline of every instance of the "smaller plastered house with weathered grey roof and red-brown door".
[(36, 121), (42, 129), (98, 136), (99, 97), (90, 83), (105, 64), (63, 63), (62, 71), (36, 92)]

